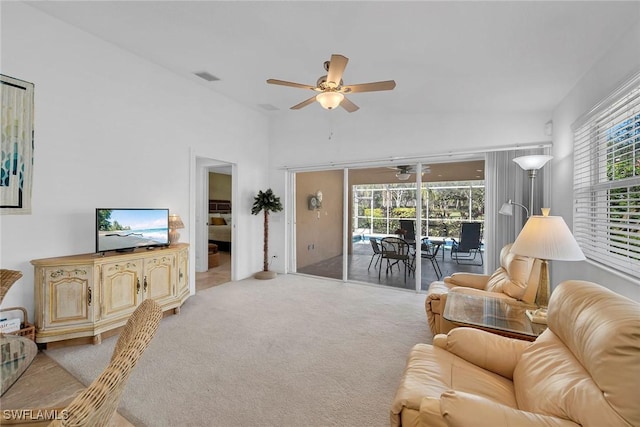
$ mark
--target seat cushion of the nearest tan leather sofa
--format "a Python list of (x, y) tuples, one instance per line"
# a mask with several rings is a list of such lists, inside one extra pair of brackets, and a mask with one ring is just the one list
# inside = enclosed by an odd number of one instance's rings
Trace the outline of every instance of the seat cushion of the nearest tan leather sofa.
[[(517, 408), (510, 380), (441, 348), (417, 344), (409, 353), (407, 367), (393, 401), (392, 425), (400, 425), (399, 414), (404, 408), (419, 411), (423, 398), (439, 399), (442, 393), (451, 389)], [(439, 413), (436, 419), (441, 420)]]

